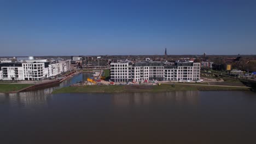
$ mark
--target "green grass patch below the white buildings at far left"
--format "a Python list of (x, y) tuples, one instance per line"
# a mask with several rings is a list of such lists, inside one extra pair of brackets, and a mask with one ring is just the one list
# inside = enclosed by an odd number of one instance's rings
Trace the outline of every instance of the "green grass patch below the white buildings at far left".
[(0, 92), (14, 92), (19, 91), (20, 89), (32, 86), (32, 84), (14, 84), (14, 83), (0, 83)]

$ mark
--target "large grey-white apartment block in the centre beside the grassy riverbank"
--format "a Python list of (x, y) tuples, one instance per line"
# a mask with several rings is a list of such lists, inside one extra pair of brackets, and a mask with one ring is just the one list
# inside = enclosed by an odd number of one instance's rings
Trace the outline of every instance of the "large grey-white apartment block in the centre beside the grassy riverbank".
[(127, 81), (179, 81), (200, 80), (200, 63), (176, 62), (131, 62), (111, 63), (110, 76), (113, 82)]

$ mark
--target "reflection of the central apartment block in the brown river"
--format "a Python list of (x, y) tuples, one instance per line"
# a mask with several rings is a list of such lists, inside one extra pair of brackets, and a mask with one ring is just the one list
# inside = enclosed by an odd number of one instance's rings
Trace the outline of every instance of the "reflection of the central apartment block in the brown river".
[(172, 103), (176, 105), (198, 105), (199, 91), (162, 92), (162, 93), (122, 93), (113, 94), (112, 102), (116, 106), (149, 105)]

